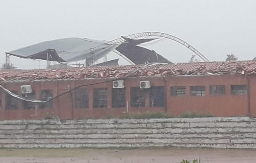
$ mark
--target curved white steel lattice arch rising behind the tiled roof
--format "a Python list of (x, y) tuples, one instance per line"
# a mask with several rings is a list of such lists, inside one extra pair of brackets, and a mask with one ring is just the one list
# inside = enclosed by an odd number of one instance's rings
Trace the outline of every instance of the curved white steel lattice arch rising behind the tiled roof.
[[(156, 37), (163, 37), (163, 38), (167, 38), (167, 39), (172, 39), (175, 42), (180, 43), (181, 45), (185, 46), (186, 48), (188, 48), (190, 51), (192, 51), (193, 53), (195, 53), (195, 55), (199, 56), (204, 62), (209, 62), (209, 59), (207, 59), (206, 56), (204, 56), (204, 54), (202, 54), (200, 51), (198, 51), (196, 48), (194, 48), (192, 45), (190, 45), (189, 43), (183, 41), (182, 39), (172, 36), (170, 34), (165, 34), (165, 33), (161, 33), (161, 32), (141, 32), (141, 33), (137, 33), (137, 34), (131, 34), (128, 36), (125, 36), (129, 39), (134, 39), (134, 38), (138, 38), (138, 37), (146, 37), (146, 36), (156, 36)], [(97, 51), (99, 49), (102, 48), (106, 48), (110, 45), (116, 45), (118, 43), (124, 42), (125, 39), (123, 39), (122, 37), (114, 39), (112, 41), (109, 41), (103, 45), (99, 45), (95, 48), (90, 48), (90, 52), (93, 53), (94, 51)], [(131, 62), (131, 60), (129, 60), (127, 57), (125, 57), (124, 55), (122, 55), (122, 53), (114, 50), (113, 52), (117, 53), (119, 56), (122, 56), (125, 60), (127, 60), (128, 62), (134, 64), (133, 62)]]

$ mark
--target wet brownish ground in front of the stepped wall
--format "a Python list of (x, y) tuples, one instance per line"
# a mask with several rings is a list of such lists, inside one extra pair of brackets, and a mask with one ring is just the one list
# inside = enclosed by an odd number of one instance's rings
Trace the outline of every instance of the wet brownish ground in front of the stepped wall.
[(256, 150), (237, 149), (0, 149), (0, 163), (255, 163)]

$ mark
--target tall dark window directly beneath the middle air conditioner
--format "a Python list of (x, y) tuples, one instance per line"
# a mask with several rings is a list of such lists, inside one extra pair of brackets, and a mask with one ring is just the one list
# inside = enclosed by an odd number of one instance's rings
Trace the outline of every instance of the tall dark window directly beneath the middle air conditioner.
[(125, 107), (126, 96), (125, 88), (112, 89), (112, 107)]

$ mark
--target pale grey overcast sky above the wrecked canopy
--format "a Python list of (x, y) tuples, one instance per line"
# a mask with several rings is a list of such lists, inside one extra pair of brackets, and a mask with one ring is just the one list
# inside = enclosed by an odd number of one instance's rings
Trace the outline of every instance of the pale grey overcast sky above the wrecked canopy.
[[(38, 42), (112, 40), (143, 31), (179, 37), (211, 61), (224, 60), (227, 53), (239, 60), (256, 56), (256, 0), (0, 0), (0, 24), (1, 64), (6, 51)], [(171, 40), (146, 48), (173, 62), (193, 54)], [(39, 64), (11, 60), (22, 68)]]

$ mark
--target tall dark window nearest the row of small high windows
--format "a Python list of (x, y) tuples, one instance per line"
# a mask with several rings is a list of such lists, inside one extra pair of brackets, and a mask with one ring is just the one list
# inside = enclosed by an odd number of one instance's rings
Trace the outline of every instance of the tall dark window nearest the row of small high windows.
[(164, 87), (151, 87), (149, 92), (150, 107), (165, 107), (166, 97)]

